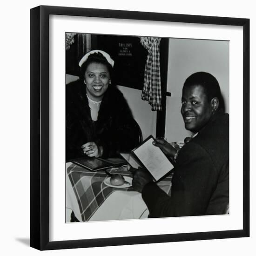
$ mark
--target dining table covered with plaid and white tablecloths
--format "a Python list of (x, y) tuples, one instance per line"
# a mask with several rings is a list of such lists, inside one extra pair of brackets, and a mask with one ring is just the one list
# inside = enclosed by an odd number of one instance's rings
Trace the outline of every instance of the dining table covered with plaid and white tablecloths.
[[(66, 163), (66, 222), (71, 214), (79, 222), (127, 220), (148, 218), (147, 205), (141, 193), (132, 187), (132, 173), (127, 165), (108, 168), (110, 174), (120, 174), (130, 181), (129, 186), (114, 186), (104, 171), (90, 171), (73, 162)], [(172, 173), (157, 185), (168, 195), (171, 193)]]

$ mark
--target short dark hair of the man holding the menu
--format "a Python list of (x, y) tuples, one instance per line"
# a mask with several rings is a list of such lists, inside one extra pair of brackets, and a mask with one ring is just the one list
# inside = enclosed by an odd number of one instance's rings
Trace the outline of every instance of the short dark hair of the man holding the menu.
[(217, 79), (207, 72), (197, 72), (191, 74), (185, 81), (184, 87), (200, 85), (204, 89), (208, 101), (212, 98), (219, 99), (219, 108), (224, 108), (224, 102), (221, 94), (221, 88)]

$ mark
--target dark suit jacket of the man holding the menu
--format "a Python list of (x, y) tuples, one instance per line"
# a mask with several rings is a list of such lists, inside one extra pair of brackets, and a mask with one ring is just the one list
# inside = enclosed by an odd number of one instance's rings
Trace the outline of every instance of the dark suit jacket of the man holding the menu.
[(179, 151), (171, 196), (154, 182), (142, 190), (150, 217), (225, 214), (229, 205), (229, 115), (213, 115)]

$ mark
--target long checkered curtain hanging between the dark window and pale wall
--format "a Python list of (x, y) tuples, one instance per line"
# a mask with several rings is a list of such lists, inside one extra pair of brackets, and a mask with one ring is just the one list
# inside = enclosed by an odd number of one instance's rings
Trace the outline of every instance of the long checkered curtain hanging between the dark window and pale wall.
[(157, 37), (140, 37), (141, 44), (148, 50), (141, 99), (148, 101), (151, 110), (162, 110), (160, 76), (160, 40)]

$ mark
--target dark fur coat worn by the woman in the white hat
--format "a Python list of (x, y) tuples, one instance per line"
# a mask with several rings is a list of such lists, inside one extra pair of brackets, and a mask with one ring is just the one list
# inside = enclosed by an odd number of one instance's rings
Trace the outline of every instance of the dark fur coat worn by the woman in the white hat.
[(117, 156), (139, 144), (138, 124), (123, 94), (110, 85), (101, 101), (98, 120), (92, 121), (86, 86), (81, 80), (66, 89), (66, 161), (83, 156), (81, 146), (94, 141), (103, 147), (102, 157)]

